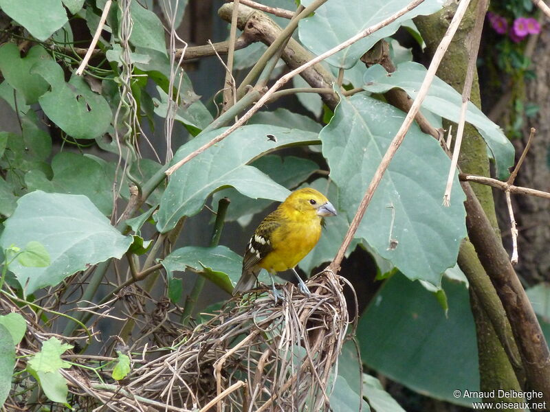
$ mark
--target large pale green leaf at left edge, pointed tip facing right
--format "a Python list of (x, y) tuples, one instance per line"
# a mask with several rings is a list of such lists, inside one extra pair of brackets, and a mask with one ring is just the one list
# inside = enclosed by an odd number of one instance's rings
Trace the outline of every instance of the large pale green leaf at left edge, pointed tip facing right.
[(120, 258), (132, 243), (132, 237), (122, 236), (86, 196), (41, 191), (19, 199), (5, 221), (0, 246), (23, 249), (32, 240), (44, 245), (52, 263), (44, 268), (10, 264), (27, 294), (55, 286), (90, 264)]

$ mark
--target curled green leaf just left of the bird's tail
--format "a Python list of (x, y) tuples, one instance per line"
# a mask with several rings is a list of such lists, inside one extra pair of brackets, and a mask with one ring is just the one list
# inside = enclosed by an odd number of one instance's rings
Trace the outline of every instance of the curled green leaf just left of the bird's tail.
[(206, 277), (225, 292), (232, 293), (233, 285), (241, 277), (243, 258), (225, 246), (186, 246), (166, 256), (162, 266), (169, 277), (173, 276), (174, 271), (190, 270)]

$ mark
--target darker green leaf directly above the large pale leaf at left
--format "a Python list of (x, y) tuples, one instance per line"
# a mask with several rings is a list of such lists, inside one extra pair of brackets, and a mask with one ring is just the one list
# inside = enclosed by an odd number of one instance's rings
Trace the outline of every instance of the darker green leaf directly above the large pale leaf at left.
[(39, 170), (25, 174), (29, 190), (49, 193), (83, 194), (110, 216), (113, 212), (113, 175), (91, 157), (72, 152), (58, 153), (52, 159), (54, 177), (50, 181)]

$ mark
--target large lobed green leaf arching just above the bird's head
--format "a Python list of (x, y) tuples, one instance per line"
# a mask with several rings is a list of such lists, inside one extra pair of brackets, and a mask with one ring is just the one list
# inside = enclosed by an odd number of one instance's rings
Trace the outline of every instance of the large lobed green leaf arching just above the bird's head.
[[(173, 163), (203, 146), (223, 130), (225, 128), (212, 130), (188, 141), (177, 150)], [(273, 135), (276, 139), (270, 139), (267, 135)], [(289, 191), (247, 163), (273, 150), (317, 142), (317, 133), (304, 130), (265, 124), (239, 128), (188, 161), (170, 177), (157, 213), (157, 229), (166, 233), (183, 216), (199, 213), (208, 196), (223, 187), (232, 186), (251, 198), (283, 201)]]

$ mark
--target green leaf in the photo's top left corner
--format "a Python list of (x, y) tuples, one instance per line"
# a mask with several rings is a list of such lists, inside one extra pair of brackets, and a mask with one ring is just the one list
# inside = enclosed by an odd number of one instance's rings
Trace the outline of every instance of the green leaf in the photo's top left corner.
[(41, 41), (67, 22), (61, 0), (0, 0), (0, 8)]

